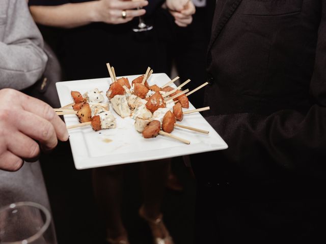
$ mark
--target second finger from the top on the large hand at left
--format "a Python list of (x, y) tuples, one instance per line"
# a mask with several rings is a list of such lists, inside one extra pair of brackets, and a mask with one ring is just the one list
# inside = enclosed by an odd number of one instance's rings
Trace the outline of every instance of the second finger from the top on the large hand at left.
[[(15, 112), (14, 112), (15, 113)], [(28, 111), (13, 114), (17, 129), (23, 134), (38, 140), (42, 148), (53, 149), (58, 144), (57, 135), (53, 125), (46, 119), (36, 116)]]

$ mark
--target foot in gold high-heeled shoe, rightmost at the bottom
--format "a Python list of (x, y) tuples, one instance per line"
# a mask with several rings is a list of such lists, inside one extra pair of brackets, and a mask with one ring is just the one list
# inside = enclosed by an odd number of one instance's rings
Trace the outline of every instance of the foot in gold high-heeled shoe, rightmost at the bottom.
[[(149, 227), (152, 231), (154, 244), (174, 244), (173, 239), (170, 236), (170, 233), (162, 220), (162, 215), (159, 215), (155, 220), (150, 219), (145, 215), (144, 208), (141, 207), (139, 209), (139, 216), (145, 221), (147, 221), (147, 223), (149, 224)], [(159, 232), (165, 233), (164, 238), (155, 236), (155, 231), (157, 231), (157, 229), (159, 230)]]

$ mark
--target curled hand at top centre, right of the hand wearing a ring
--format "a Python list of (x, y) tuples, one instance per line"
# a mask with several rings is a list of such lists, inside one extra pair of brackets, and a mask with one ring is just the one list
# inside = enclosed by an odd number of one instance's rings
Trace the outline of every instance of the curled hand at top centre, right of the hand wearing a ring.
[(191, 0), (166, 0), (166, 6), (180, 27), (186, 27), (193, 22), (196, 8)]

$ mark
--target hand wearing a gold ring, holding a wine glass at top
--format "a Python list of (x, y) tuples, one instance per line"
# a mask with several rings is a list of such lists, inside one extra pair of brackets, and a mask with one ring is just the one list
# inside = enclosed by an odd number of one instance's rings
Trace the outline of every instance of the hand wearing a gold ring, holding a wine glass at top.
[(146, 13), (143, 8), (148, 1), (100, 0), (95, 2), (95, 22), (121, 24)]

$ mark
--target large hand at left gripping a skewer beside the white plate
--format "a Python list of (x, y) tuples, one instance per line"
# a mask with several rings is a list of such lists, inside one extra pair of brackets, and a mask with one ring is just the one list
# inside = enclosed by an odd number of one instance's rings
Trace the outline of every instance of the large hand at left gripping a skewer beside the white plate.
[(23, 159), (35, 159), (40, 147), (50, 150), (58, 139), (68, 140), (68, 132), (49, 105), (14, 89), (0, 90), (0, 169), (18, 170)]

